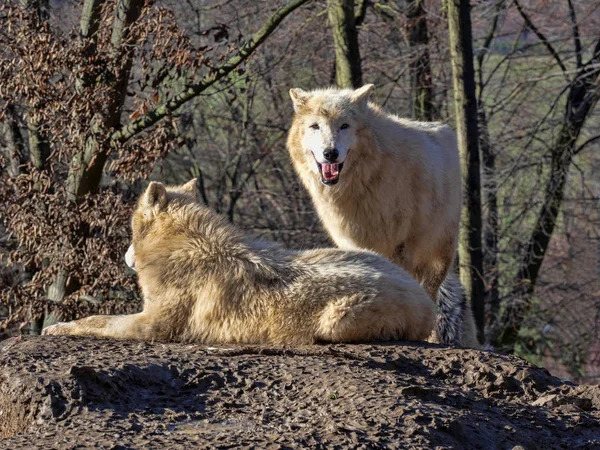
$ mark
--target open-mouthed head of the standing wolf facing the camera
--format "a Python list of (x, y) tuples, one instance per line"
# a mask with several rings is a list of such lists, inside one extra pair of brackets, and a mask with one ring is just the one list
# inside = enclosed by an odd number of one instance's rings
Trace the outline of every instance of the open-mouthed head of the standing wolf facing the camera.
[(367, 109), (367, 84), (360, 89), (290, 89), (294, 127), (300, 128), (300, 145), (310, 165), (326, 185), (336, 184), (348, 154), (357, 142), (359, 116)]

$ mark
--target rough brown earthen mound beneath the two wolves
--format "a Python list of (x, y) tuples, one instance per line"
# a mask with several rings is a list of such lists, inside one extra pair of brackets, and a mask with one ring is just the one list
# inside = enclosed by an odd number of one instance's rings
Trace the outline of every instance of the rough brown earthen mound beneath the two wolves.
[(598, 386), (482, 351), (0, 343), (0, 448), (596, 449), (599, 419)]

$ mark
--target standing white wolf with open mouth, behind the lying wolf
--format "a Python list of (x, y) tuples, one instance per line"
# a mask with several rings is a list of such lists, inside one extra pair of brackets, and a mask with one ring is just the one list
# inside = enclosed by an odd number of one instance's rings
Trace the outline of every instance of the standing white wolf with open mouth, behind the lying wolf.
[(473, 316), (452, 267), (460, 221), (454, 133), (368, 102), (373, 87), (291, 89), (287, 146), (329, 235), (342, 249), (375, 251), (410, 272), (438, 304), (438, 336), (476, 345)]

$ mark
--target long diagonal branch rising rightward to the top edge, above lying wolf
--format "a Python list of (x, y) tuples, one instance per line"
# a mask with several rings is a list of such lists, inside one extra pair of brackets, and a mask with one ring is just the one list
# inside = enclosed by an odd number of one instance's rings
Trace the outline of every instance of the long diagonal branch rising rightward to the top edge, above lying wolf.
[(190, 85), (186, 90), (173, 97), (168, 102), (160, 105), (158, 108), (150, 111), (130, 124), (121, 127), (111, 136), (112, 142), (126, 142), (136, 134), (142, 132), (146, 128), (151, 127), (158, 121), (166, 117), (171, 112), (175, 111), (183, 104), (197, 97), (207, 88), (215, 84), (217, 81), (227, 76), (232, 70), (244, 62), (248, 57), (267, 39), (277, 26), (285, 19), (292, 11), (307, 3), (308, 0), (293, 0), (282, 8), (278, 9), (267, 23), (252, 35), (252, 37), (242, 46), (237, 55), (227, 61), (215, 72), (207, 75), (204, 79), (194, 85)]

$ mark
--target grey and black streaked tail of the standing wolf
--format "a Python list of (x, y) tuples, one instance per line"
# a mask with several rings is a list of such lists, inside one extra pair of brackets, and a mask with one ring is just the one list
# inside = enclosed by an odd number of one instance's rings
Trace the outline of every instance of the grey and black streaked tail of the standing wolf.
[(436, 328), (442, 344), (480, 347), (471, 306), (453, 273), (448, 273), (438, 291)]

